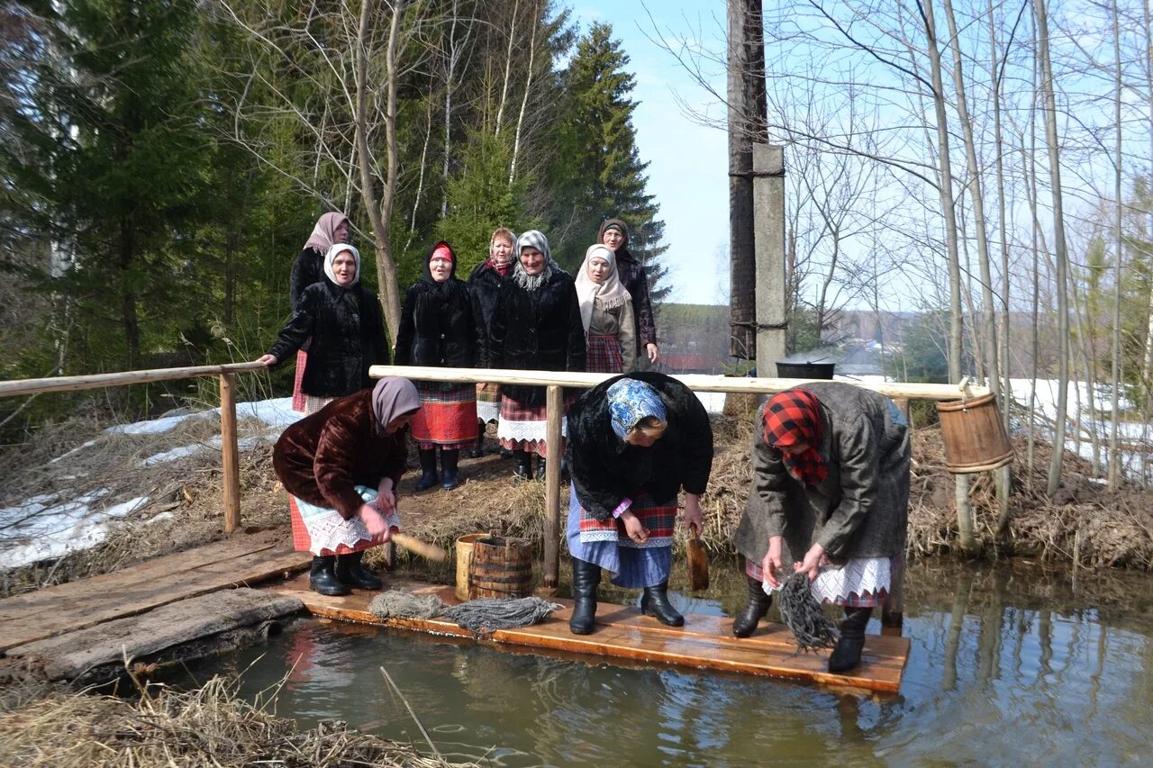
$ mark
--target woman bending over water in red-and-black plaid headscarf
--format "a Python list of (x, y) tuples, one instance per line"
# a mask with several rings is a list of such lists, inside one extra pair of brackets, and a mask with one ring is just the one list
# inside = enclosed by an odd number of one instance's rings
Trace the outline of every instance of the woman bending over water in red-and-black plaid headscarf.
[(747, 638), (784, 575), (802, 571), (817, 601), (844, 605), (830, 672), (860, 663), (865, 626), (899, 573), (909, 519), (909, 430), (889, 398), (851, 384), (773, 396), (759, 416), (753, 485), (734, 534), (748, 603)]

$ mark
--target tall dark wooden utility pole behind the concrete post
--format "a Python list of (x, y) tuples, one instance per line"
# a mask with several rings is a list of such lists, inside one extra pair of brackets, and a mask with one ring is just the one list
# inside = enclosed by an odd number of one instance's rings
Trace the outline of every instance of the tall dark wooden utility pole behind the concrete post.
[(729, 27), (729, 354), (756, 354), (753, 144), (768, 142), (761, 0), (728, 0)]

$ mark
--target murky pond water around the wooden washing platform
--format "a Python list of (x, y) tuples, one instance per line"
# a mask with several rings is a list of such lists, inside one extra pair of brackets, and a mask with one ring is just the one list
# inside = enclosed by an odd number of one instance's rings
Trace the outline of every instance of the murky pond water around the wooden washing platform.
[[(743, 581), (714, 581), (679, 605), (731, 613)], [(912, 564), (906, 593), (912, 652), (888, 697), (315, 619), (167, 682), (241, 675), (302, 725), (423, 745), (407, 702), (446, 759), (495, 766), (1148, 765), (1153, 578), (935, 560)]]

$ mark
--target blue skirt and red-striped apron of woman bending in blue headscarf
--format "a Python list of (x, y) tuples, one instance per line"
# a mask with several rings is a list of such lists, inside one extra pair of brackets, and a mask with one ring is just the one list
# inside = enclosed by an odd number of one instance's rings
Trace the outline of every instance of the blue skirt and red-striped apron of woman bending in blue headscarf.
[(672, 528), (677, 521), (677, 499), (657, 504), (640, 494), (628, 507), (648, 532), (638, 544), (625, 534), (625, 524), (610, 518), (605, 522), (590, 515), (576, 500), (576, 489), (568, 491), (568, 526), (565, 537), (570, 554), (595, 563), (612, 573), (612, 583), (626, 589), (655, 587), (669, 580), (672, 569)]

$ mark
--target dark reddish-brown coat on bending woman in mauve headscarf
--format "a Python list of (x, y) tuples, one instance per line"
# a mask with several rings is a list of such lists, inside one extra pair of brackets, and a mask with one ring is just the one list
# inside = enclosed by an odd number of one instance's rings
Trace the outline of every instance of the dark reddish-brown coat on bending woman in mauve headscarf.
[(407, 427), (386, 435), (372, 413), (372, 390), (361, 390), (288, 427), (272, 450), (272, 468), (289, 494), (348, 520), (364, 504), (356, 485), (375, 489), (385, 477), (393, 488), (400, 483), (407, 436)]

